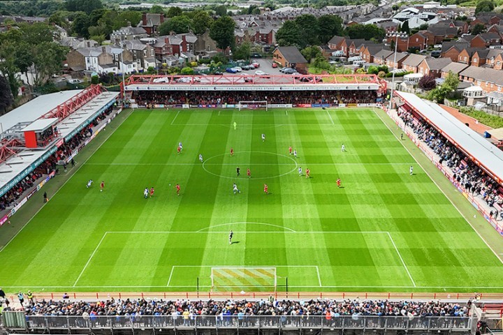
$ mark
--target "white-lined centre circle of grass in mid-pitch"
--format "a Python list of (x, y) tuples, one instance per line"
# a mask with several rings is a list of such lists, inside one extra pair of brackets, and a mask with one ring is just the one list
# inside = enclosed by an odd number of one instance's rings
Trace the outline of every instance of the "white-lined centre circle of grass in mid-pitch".
[[(236, 168), (240, 168), (240, 176)], [(214, 176), (236, 179), (248, 178), (247, 169), (250, 169), (251, 179), (268, 179), (282, 177), (296, 171), (297, 162), (293, 156), (276, 154), (266, 151), (234, 151), (207, 158), (203, 169)]]

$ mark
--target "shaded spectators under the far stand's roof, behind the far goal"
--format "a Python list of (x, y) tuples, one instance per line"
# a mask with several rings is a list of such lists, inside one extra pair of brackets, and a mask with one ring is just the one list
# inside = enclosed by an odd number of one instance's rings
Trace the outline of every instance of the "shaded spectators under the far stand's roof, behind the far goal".
[(376, 91), (136, 91), (138, 105), (235, 105), (240, 101), (269, 104), (376, 103)]

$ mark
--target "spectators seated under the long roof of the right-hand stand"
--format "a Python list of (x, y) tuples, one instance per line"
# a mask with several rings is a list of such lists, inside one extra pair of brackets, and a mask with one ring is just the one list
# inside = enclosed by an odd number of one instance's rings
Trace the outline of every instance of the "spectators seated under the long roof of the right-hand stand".
[(404, 107), (400, 107), (398, 110), (398, 117), (404, 121), (405, 126), (409, 126), (414, 131), (419, 140), (439, 156), (440, 164), (451, 169), (453, 179), (463, 191), (483, 199), (490, 207), (490, 216), (496, 220), (503, 220), (503, 211), (500, 210), (503, 206), (503, 188), (497, 181), (486, 174), (425, 120), (413, 115)]

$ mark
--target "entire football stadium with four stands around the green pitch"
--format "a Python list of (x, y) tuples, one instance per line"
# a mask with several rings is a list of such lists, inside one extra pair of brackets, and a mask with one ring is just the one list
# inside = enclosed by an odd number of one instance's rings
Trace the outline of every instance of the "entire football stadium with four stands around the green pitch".
[(0, 117), (3, 325), (480, 331), (503, 152), (385, 98), (375, 75), (133, 75)]

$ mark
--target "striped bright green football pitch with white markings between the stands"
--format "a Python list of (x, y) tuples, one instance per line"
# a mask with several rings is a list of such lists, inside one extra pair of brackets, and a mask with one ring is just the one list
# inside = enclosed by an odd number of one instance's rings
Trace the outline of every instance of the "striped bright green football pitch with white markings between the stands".
[(0, 252), (4, 290), (503, 290), (500, 259), (370, 109), (136, 110), (79, 166)]

